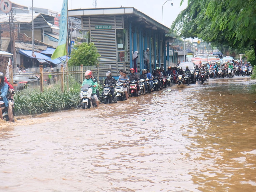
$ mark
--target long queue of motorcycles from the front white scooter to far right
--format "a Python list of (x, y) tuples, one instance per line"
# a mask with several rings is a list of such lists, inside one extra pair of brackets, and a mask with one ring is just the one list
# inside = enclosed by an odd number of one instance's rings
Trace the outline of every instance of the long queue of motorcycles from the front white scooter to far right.
[[(130, 97), (137, 97), (144, 94), (148, 94), (152, 91), (159, 91), (160, 89), (167, 88), (168, 86), (172, 86), (172, 84), (177, 84), (180, 86), (181, 84), (190, 84), (195, 83), (196, 81), (200, 81), (204, 83), (209, 78), (224, 78), (224, 77), (233, 77), (234, 74), (236, 76), (249, 76), (252, 73), (252, 67), (248, 65), (239, 65), (239, 62), (233, 63), (233, 69), (229, 63), (223, 63), (220, 65), (219, 62), (214, 63), (215, 67), (213, 68), (213, 64), (209, 65), (209, 63), (205, 63), (200, 66), (196, 66), (194, 72), (188, 70), (188, 72), (183, 72), (183, 69), (179, 66), (172, 67), (171, 72), (164, 71), (164, 69), (158, 68), (162, 76), (154, 76), (152, 79), (139, 79), (130, 81), (129, 84), (127, 82), (117, 82), (116, 84), (105, 84), (103, 85), (103, 97), (100, 95), (99, 90), (96, 90), (97, 96), (99, 100), (105, 104), (115, 103), (117, 101), (126, 100), (124, 90), (125, 88), (129, 89)], [(234, 66), (235, 65), (235, 66)], [(180, 71), (182, 73), (180, 73)], [(162, 72), (163, 73), (162, 73)], [(158, 71), (157, 71), (158, 72)], [(153, 75), (155, 72), (153, 72)], [(153, 81), (152, 88), (150, 88), (150, 81)], [(95, 106), (95, 103), (91, 100), (92, 89), (91, 86), (85, 85), (80, 94), (80, 101), (83, 109), (92, 108)], [(111, 95), (111, 89), (114, 89), (113, 96)], [(84, 102), (83, 100), (86, 100)], [(83, 103), (85, 103), (83, 105)]]

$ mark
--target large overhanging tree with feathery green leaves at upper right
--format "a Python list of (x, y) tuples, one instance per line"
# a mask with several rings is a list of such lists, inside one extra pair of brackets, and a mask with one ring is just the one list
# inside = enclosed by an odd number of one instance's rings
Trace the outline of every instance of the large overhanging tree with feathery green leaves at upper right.
[(254, 49), (256, 58), (255, 27), (256, 0), (188, 0), (171, 31), (179, 30), (185, 38), (197, 37), (234, 49)]

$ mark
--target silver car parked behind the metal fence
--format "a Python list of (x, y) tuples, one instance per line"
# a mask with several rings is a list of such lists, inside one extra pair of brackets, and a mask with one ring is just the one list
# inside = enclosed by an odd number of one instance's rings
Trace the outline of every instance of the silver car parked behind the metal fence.
[(40, 79), (34, 73), (14, 73), (13, 85), (15, 90), (21, 90), (26, 87), (39, 86)]

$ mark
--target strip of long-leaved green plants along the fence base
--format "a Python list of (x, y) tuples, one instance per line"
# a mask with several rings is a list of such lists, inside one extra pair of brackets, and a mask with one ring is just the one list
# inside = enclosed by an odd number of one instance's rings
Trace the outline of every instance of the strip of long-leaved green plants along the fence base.
[(35, 89), (24, 89), (14, 95), (16, 115), (40, 114), (70, 109), (79, 103), (78, 90), (59, 91), (58, 87), (50, 87), (40, 92)]

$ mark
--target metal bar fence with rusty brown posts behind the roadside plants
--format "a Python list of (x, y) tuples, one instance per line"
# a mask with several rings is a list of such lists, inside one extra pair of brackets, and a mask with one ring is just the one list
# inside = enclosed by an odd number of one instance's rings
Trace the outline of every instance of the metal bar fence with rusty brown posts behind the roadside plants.
[(33, 88), (43, 91), (44, 88), (55, 87), (60, 90), (71, 90), (80, 87), (79, 81), (84, 80), (84, 72), (91, 70), (93, 76), (99, 80), (111, 71), (111, 65), (100, 66), (70, 66), (64, 68), (31, 67), (12, 68), (9, 66), (9, 79), (15, 91)]

